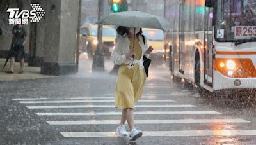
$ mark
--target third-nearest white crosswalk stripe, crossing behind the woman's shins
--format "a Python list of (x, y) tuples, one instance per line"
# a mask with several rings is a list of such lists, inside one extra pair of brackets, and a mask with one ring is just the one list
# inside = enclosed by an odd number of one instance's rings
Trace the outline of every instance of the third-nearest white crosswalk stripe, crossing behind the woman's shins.
[[(36, 113), (38, 116), (100, 116), (121, 115), (121, 112), (90, 112), (90, 113)], [(221, 114), (216, 111), (141, 111), (134, 112), (135, 115), (145, 114)]]

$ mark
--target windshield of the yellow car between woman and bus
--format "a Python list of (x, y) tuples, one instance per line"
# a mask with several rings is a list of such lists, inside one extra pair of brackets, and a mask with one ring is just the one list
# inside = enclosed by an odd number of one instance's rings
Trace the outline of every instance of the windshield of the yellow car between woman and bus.
[(143, 30), (148, 41), (163, 41), (164, 33), (161, 30)]

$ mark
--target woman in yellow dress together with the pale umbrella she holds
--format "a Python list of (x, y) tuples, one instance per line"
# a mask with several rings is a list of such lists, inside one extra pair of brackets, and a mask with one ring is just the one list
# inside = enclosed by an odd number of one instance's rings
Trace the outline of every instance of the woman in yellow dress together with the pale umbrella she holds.
[[(98, 20), (97, 24), (119, 26), (116, 31), (121, 35), (116, 47), (111, 53), (113, 62), (120, 65), (115, 90), (115, 106), (122, 109), (120, 124), (116, 133), (127, 135), (124, 123), (127, 120), (130, 128), (130, 140), (135, 141), (142, 136), (142, 132), (134, 127), (134, 102), (141, 99), (146, 80), (146, 68), (143, 56), (148, 61), (152, 46), (147, 46), (147, 39), (142, 35), (141, 27), (172, 29), (170, 23), (163, 17), (143, 13), (141, 11), (125, 11), (109, 13)], [(146, 63), (147, 67), (149, 63)]]

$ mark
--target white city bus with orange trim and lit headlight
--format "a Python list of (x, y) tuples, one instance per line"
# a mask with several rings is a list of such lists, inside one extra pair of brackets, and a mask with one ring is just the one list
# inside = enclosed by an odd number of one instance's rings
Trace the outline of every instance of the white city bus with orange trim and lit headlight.
[(173, 81), (216, 92), (256, 88), (256, 0), (166, 0)]

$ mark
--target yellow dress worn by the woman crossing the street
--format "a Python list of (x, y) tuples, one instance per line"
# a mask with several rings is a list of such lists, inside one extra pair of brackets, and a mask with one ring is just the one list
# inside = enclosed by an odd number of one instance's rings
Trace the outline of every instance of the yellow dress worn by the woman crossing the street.
[[(130, 40), (130, 49), (133, 47), (133, 39)], [(139, 45), (139, 39), (135, 39), (134, 44), (135, 60), (141, 58), (142, 50)], [(139, 65), (135, 64), (129, 69), (128, 64), (121, 64), (118, 71), (118, 77), (115, 88), (115, 106), (122, 109), (134, 109), (134, 102), (141, 99), (145, 81), (145, 69), (139, 69)]]

